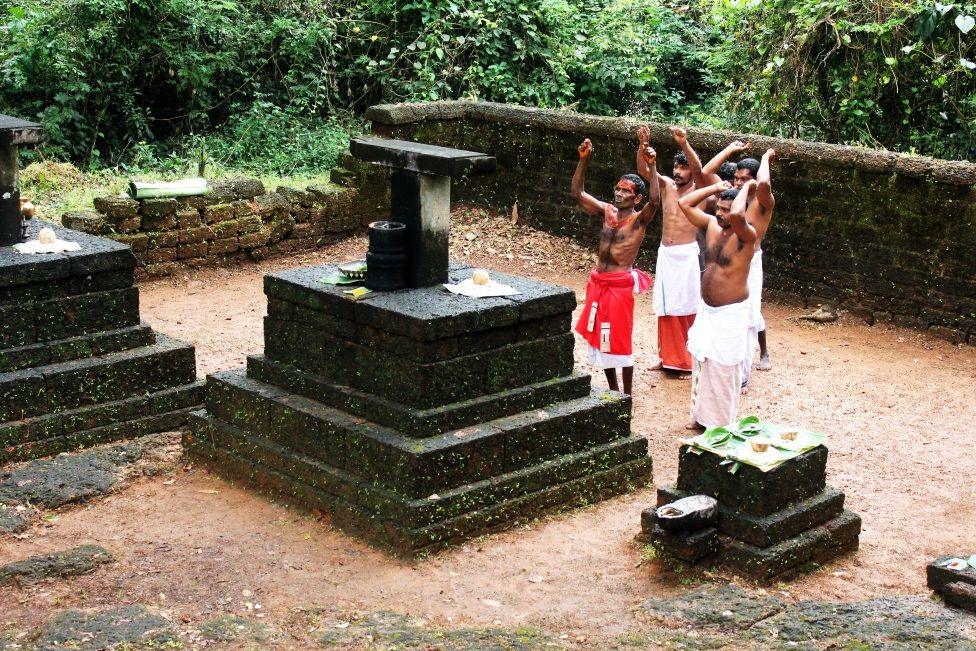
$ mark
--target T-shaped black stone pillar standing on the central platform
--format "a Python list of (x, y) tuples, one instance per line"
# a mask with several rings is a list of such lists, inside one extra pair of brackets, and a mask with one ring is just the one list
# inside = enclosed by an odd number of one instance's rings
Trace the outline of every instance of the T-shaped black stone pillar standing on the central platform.
[(390, 218), (407, 226), (407, 286), (447, 282), (451, 177), (495, 169), (485, 154), (404, 140), (357, 138), (357, 158), (393, 168)]

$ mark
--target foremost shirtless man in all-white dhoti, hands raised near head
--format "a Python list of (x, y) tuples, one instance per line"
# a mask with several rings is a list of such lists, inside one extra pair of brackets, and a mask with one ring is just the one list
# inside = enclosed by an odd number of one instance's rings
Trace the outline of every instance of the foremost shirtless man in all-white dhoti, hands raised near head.
[[(723, 181), (678, 202), (688, 221), (706, 231), (702, 302), (688, 333), (688, 350), (694, 358), (689, 429), (728, 425), (738, 417), (749, 323), (747, 281), (756, 245), (756, 229), (746, 212), (755, 193), (755, 181), (741, 190)], [(718, 195), (714, 216), (699, 207), (712, 195)]]

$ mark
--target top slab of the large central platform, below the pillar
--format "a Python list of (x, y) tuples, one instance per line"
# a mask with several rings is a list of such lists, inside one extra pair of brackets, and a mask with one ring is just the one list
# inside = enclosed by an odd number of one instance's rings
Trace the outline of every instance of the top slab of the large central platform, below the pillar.
[[(492, 273), (498, 282), (522, 292), (516, 296), (470, 298), (441, 286), (375, 292), (353, 301), (348, 286), (320, 280), (337, 271), (333, 265), (302, 267), (265, 276), (265, 293), (417, 341), (433, 341), (460, 334), (500, 328), (521, 321), (570, 313), (576, 294), (565, 287), (528, 278)], [(450, 282), (469, 278), (470, 268), (452, 265)]]

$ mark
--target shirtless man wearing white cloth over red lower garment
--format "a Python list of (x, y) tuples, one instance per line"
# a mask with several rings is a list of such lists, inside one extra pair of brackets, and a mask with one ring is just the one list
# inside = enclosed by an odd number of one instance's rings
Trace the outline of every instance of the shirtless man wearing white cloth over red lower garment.
[[(701, 301), (701, 262), (698, 229), (685, 219), (678, 200), (701, 183), (701, 161), (688, 143), (684, 129), (671, 127), (671, 134), (681, 153), (674, 157), (674, 178), (660, 177), (661, 245), (657, 252), (653, 289), (660, 363), (654, 368), (687, 378), (692, 369), (688, 330), (695, 322)], [(642, 147), (649, 137), (650, 130), (646, 126), (637, 129), (637, 140)], [(639, 159), (637, 173), (651, 181), (650, 170)]]

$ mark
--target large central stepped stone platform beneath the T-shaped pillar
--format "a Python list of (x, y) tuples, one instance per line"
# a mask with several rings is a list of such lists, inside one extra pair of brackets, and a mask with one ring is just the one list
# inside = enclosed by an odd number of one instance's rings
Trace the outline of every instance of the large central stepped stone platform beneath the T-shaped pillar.
[[(410, 556), (650, 479), (628, 396), (573, 370), (572, 291), (353, 301), (334, 267), (265, 277), (265, 350), (208, 378), (186, 449)], [(460, 265), (452, 282), (470, 277)]]

